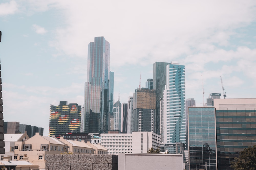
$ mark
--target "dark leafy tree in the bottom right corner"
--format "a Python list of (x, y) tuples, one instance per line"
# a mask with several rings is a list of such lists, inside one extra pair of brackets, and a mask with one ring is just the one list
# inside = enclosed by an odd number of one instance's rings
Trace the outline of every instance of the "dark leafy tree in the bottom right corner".
[(231, 168), (234, 170), (256, 170), (256, 145), (244, 148), (239, 153), (239, 158), (234, 158)]

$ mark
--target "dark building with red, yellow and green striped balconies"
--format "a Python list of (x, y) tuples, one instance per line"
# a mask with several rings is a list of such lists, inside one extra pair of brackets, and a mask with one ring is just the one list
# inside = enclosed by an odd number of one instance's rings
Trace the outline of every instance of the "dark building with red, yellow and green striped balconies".
[(81, 106), (60, 101), (58, 106), (51, 104), (49, 136), (60, 138), (69, 132), (80, 132)]

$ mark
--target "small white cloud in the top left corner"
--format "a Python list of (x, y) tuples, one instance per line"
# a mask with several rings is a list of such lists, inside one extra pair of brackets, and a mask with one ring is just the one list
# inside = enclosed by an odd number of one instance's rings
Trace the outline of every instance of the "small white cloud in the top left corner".
[(15, 1), (0, 4), (0, 16), (15, 14), (18, 11), (18, 4)]

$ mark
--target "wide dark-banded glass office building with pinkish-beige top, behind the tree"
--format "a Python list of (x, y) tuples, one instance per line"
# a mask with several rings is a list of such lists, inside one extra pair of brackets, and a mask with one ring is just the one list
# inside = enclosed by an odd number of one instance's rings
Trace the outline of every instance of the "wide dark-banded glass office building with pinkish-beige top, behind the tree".
[(256, 145), (256, 99), (214, 99), (218, 169), (230, 170), (234, 157)]

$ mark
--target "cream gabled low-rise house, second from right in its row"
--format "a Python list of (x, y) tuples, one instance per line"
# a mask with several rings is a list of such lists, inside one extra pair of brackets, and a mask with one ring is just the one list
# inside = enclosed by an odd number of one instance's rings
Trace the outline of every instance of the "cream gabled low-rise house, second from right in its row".
[(65, 143), (73, 154), (93, 154), (92, 147), (87, 145), (84, 140), (81, 142), (76, 140), (67, 140), (64, 139), (63, 136), (61, 136), (59, 140)]

